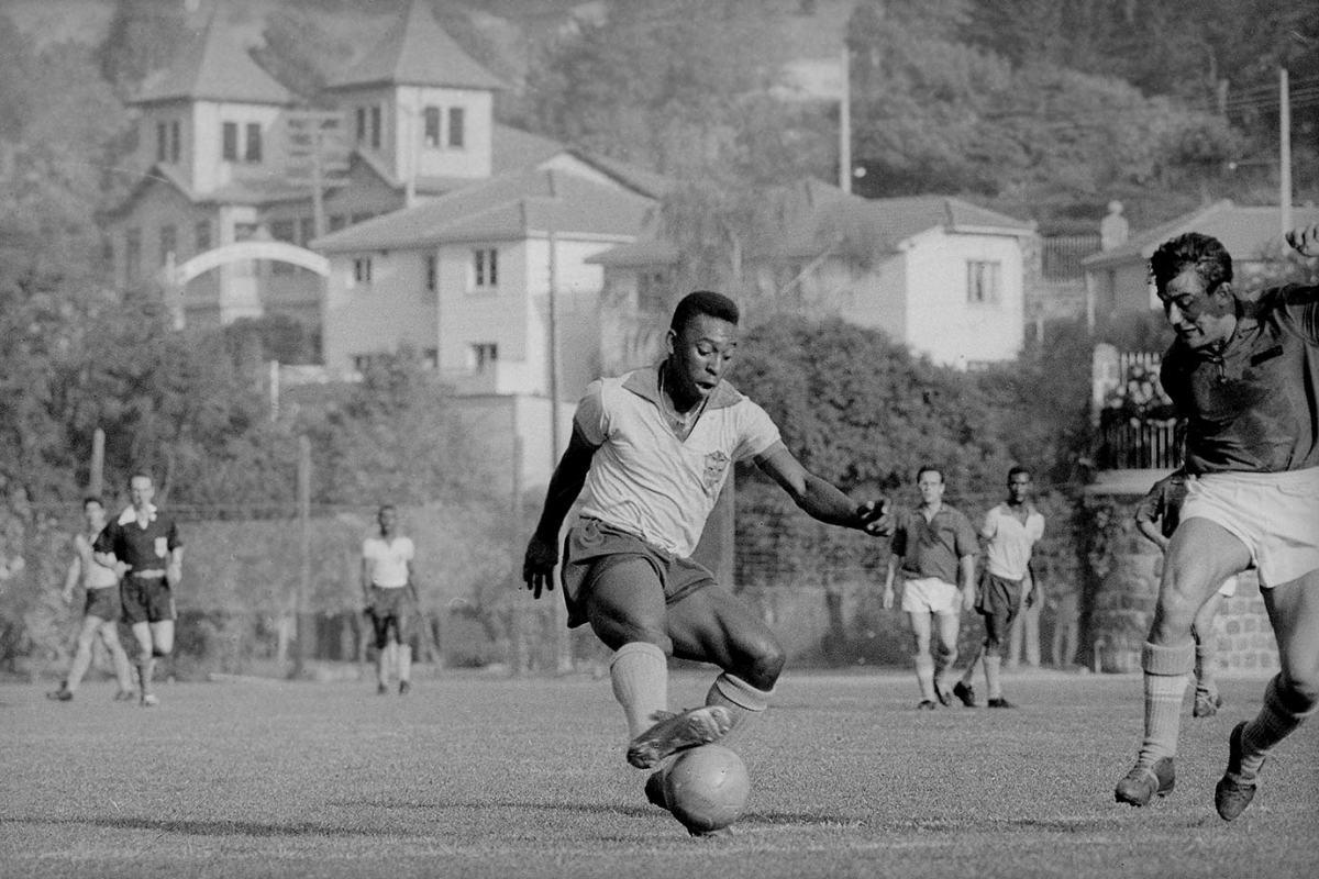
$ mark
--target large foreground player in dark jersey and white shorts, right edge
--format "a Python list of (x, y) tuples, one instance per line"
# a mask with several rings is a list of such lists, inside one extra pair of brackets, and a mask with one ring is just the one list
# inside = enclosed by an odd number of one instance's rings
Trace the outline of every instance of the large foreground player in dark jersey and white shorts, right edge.
[[(1287, 241), (1319, 257), (1319, 225)], [(1215, 808), (1231, 821), (1250, 804), (1265, 758), (1319, 708), (1319, 286), (1237, 297), (1232, 257), (1196, 232), (1162, 244), (1150, 277), (1177, 331), (1161, 378), (1187, 419), (1191, 480), (1141, 656), (1145, 738), (1113, 795), (1144, 807), (1173, 791), (1191, 626), (1224, 580), (1254, 568), (1278, 673), (1258, 714), (1228, 738)]]

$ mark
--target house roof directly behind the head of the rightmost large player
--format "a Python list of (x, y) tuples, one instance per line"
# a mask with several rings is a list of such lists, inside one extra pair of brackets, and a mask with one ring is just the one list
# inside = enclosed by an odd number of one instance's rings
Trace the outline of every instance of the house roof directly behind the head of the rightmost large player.
[[(1319, 223), (1319, 208), (1293, 207), (1295, 225)], [(1198, 211), (1169, 220), (1122, 244), (1080, 261), (1086, 269), (1099, 269), (1124, 262), (1144, 262), (1169, 239), (1186, 232), (1200, 232), (1217, 239), (1236, 261), (1258, 260), (1282, 246), (1282, 208), (1277, 204), (1244, 206), (1231, 199), (1207, 204)]]

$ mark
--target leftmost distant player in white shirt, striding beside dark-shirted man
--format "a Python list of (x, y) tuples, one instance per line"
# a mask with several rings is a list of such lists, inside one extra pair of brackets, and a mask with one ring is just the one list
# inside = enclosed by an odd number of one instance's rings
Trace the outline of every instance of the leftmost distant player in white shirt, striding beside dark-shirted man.
[(69, 667), (69, 677), (59, 685), (59, 689), (46, 693), (46, 696), (61, 702), (73, 700), (78, 685), (82, 684), (83, 675), (91, 667), (91, 648), (96, 637), (100, 635), (100, 640), (106, 644), (109, 659), (115, 664), (115, 677), (119, 679), (119, 692), (115, 695), (115, 701), (131, 701), (137, 696), (133, 692), (133, 672), (128, 664), (128, 654), (119, 643), (119, 619), (124, 615), (119, 596), (119, 572), (99, 564), (92, 557), (91, 550), (92, 540), (106, 527), (106, 505), (99, 497), (88, 497), (83, 501), (83, 530), (74, 535), (74, 559), (69, 564), (65, 588), (61, 593), (65, 604), (71, 604), (74, 589), (79, 584), (86, 590), (83, 621), (78, 630), (78, 650)]

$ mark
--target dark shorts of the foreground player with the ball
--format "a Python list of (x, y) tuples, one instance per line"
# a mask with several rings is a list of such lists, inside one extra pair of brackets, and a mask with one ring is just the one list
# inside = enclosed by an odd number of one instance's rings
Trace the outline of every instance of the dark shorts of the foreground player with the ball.
[(715, 575), (691, 559), (679, 559), (641, 538), (599, 519), (579, 519), (563, 540), (563, 602), (568, 627), (587, 622), (591, 585), (620, 561), (641, 559), (654, 572), (654, 585), (673, 605), (691, 593), (715, 585)]

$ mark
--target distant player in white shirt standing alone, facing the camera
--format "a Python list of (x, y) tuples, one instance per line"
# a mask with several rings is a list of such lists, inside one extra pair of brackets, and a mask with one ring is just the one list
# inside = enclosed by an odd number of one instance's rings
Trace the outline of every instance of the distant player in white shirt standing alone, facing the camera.
[[(361, 542), (361, 594), (376, 635), (376, 692), (389, 692), (389, 669), (398, 669), (398, 695), (412, 689), (412, 611), (418, 605), (413, 582), (412, 538), (397, 534), (392, 503), (376, 514), (380, 535)], [(409, 605), (409, 601), (412, 604)]]

